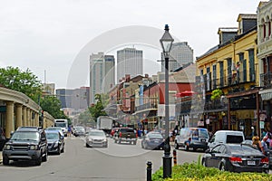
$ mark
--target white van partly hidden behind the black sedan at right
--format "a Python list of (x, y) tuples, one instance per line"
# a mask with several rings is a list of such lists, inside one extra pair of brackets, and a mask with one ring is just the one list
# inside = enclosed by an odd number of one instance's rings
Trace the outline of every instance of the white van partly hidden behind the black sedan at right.
[(244, 133), (238, 130), (218, 130), (209, 141), (209, 148), (219, 143), (241, 143), (245, 140)]

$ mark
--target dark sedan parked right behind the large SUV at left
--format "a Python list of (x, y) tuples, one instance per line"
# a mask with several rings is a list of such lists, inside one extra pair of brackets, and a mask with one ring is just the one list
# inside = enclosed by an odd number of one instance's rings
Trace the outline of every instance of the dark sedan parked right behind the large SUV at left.
[(64, 152), (64, 136), (59, 130), (45, 130), (47, 138), (48, 153), (56, 153), (60, 155)]

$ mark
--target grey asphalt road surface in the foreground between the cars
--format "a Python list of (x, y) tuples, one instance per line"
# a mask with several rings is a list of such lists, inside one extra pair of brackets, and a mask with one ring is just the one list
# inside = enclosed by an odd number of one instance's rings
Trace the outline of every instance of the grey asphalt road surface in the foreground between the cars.
[[(137, 145), (116, 144), (109, 138), (108, 148), (86, 148), (83, 138), (65, 138), (65, 152), (49, 156), (40, 167), (29, 162), (0, 165), (0, 180), (70, 181), (70, 180), (146, 180), (146, 163), (153, 172), (162, 165), (163, 150), (145, 150)], [(201, 152), (177, 151), (178, 164), (197, 161)]]

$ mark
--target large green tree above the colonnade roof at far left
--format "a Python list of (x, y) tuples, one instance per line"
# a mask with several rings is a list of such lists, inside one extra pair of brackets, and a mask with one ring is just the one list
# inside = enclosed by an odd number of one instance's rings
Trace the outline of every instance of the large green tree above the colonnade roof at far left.
[(42, 82), (29, 69), (21, 71), (18, 67), (8, 66), (0, 69), (0, 75), (2, 86), (20, 91), (38, 103), (42, 95)]

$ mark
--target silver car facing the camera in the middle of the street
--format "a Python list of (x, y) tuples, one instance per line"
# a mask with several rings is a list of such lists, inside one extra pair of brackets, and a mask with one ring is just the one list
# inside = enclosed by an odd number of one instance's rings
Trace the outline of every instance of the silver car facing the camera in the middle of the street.
[(90, 147), (108, 147), (108, 139), (102, 130), (92, 129), (86, 135), (86, 148)]

